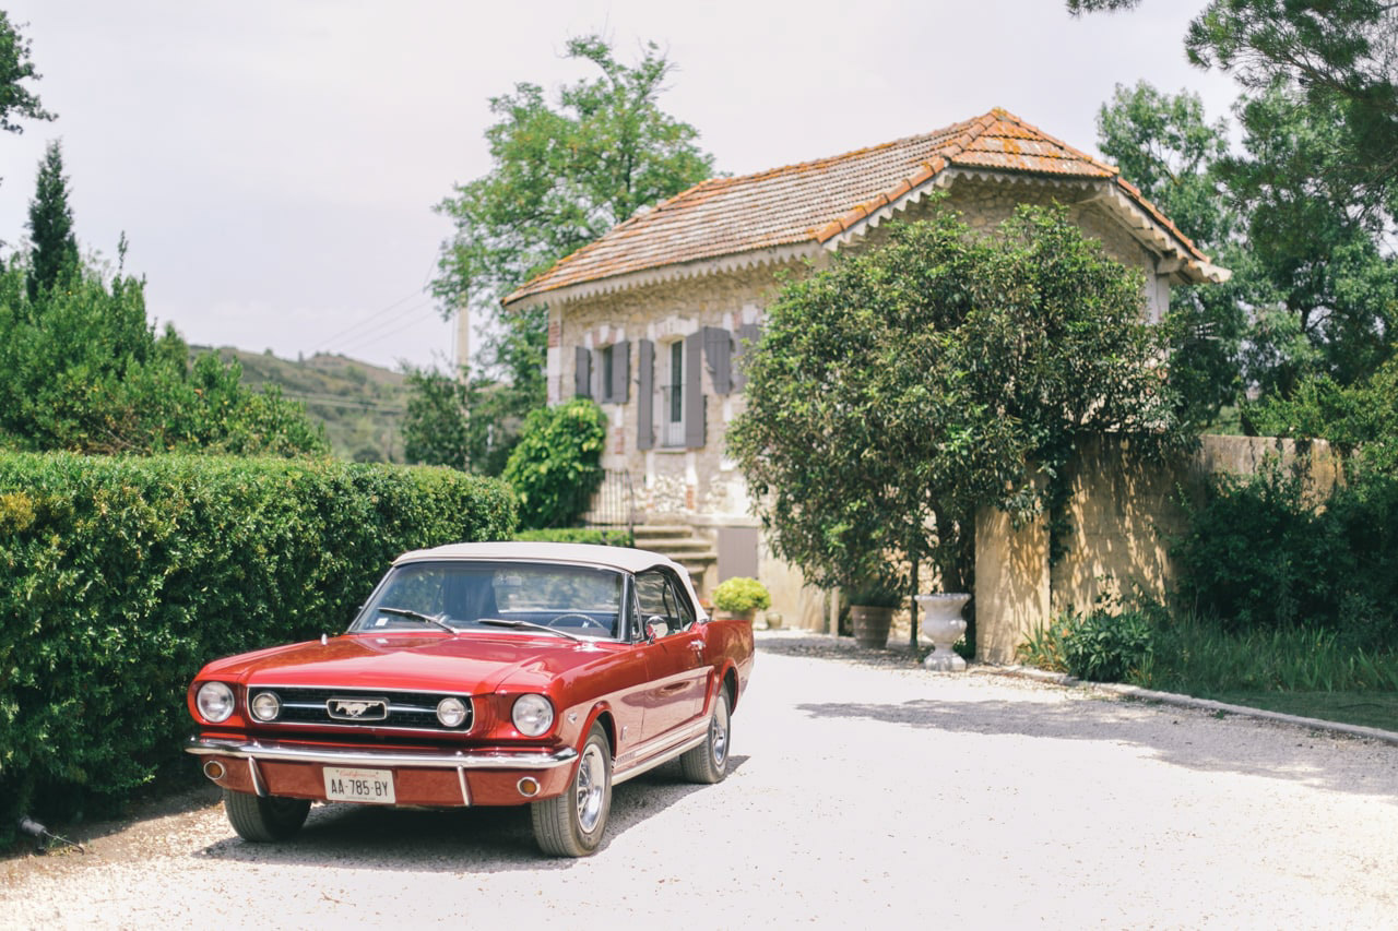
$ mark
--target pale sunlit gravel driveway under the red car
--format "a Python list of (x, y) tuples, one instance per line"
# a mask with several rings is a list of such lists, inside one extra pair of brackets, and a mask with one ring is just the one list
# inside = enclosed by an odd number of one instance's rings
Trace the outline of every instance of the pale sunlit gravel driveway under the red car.
[(589, 860), (523, 809), (316, 807), (247, 844), (204, 794), (0, 861), (0, 927), (1398, 927), (1398, 746), (759, 650), (727, 781), (619, 786)]

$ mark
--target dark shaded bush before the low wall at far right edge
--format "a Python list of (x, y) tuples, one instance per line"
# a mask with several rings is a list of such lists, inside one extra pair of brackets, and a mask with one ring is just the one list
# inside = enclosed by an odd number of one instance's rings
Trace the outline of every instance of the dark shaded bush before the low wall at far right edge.
[(1299, 470), (1211, 479), (1172, 541), (1180, 598), (1227, 633), (1306, 628), (1357, 647), (1398, 636), (1398, 478), (1362, 472), (1323, 502)]

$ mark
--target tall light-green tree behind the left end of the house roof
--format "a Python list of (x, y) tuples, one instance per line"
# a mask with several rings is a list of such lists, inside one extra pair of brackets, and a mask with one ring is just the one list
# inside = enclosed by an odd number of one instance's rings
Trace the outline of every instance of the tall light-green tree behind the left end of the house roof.
[(598, 36), (570, 39), (568, 57), (600, 77), (563, 87), (556, 103), (537, 84), (491, 98), (493, 166), (438, 205), (456, 225), (433, 282), (450, 308), (493, 312), (558, 259), (713, 173), (698, 130), (657, 106), (674, 66), (656, 43), (635, 66)]

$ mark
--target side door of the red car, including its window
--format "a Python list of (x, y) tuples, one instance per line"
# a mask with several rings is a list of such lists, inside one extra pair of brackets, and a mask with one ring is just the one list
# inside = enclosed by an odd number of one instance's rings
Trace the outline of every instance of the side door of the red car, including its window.
[[(642, 699), (642, 732), (649, 741), (703, 713), (709, 668), (703, 658), (703, 625), (695, 623), (695, 608), (674, 573), (668, 569), (637, 573), (636, 602), (642, 623), (657, 625), (654, 639), (639, 644), (650, 679)], [(658, 625), (664, 625), (663, 632)]]

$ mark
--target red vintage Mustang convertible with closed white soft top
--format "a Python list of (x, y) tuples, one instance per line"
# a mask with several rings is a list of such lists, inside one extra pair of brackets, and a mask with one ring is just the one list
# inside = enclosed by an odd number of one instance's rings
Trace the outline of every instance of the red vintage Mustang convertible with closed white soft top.
[(612, 786), (671, 759), (727, 773), (752, 628), (710, 619), (640, 549), (459, 544), (400, 556), (337, 637), (218, 660), (189, 752), (245, 839), (312, 801), (530, 805), (554, 856), (593, 853)]

